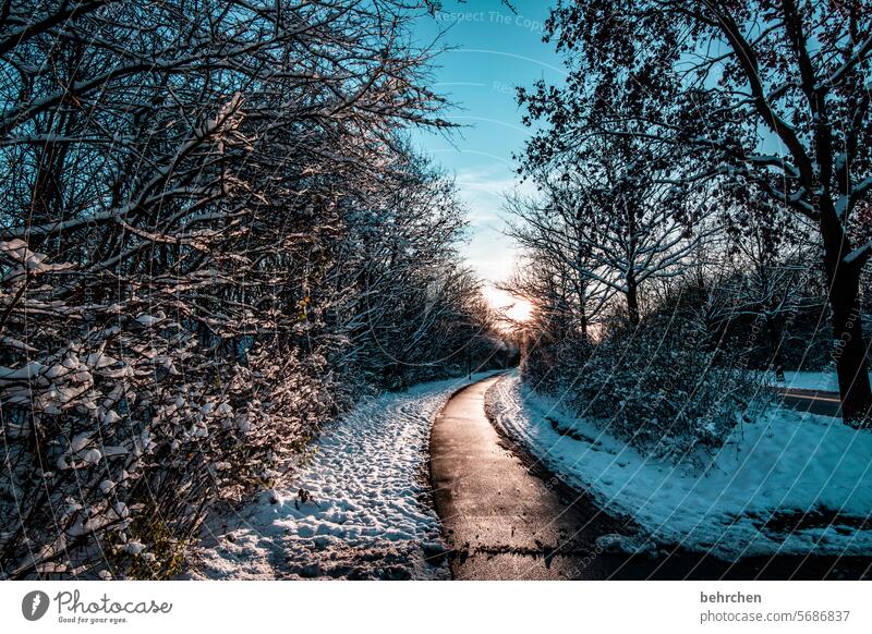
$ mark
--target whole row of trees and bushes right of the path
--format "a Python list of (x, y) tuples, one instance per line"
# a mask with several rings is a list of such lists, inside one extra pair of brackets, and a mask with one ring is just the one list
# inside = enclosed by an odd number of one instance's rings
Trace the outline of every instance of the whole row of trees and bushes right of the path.
[(870, 424), (872, 4), (559, 1), (564, 85), (510, 200), (524, 373), (646, 450), (753, 419), (763, 371), (831, 369)]

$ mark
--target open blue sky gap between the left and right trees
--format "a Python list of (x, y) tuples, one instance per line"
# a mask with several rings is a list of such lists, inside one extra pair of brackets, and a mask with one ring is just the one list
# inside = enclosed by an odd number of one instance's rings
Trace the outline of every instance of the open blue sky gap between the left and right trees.
[(559, 84), (566, 74), (554, 46), (542, 41), (549, 4), (516, 0), (511, 12), (500, 0), (445, 0), (435, 19), (416, 22), (421, 44), (441, 33), (440, 46), (450, 49), (434, 61), (432, 87), (452, 103), (443, 117), (463, 127), (448, 136), (416, 131), (412, 142), (455, 175), (471, 224), (462, 254), (496, 307), (512, 303), (494, 289), (511, 273), (517, 256), (502, 233), (507, 215), (501, 207), (505, 193), (518, 184), (512, 154), (530, 135), (514, 88), (540, 78)]

